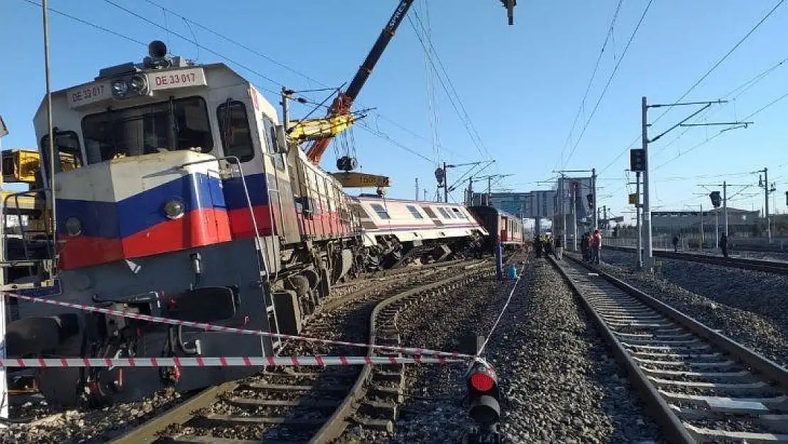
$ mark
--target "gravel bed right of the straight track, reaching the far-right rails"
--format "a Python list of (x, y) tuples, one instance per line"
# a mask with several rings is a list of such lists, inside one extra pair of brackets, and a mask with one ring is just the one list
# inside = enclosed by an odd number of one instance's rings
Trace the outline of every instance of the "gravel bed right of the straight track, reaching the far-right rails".
[(634, 252), (603, 252), (602, 269), (701, 323), (788, 366), (788, 276), (661, 258), (635, 270)]

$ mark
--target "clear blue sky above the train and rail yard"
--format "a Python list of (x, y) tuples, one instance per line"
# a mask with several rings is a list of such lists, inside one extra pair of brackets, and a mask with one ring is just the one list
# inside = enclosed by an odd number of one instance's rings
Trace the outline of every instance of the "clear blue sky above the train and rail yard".
[[(190, 29), (176, 14), (165, 13), (145, 0), (111, 1), (171, 32), (110, 2), (51, 0), (50, 7), (140, 42), (165, 40), (173, 54), (197, 58), (199, 62), (226, 62), (259, 87), (269, 90), (278, 90), (281, 84), (306, 89), (323, 85), (337, 87), (348, 82), (397, 3), (396, 0), (303, 0), (247, 1), (224, 6), (206, 0), (154, 0), (267, 57), (263, 58), (194, 24)], [(392, 177), (394, 187), (390, 196), (412, 198), (417, 177), (422, 188), (424, 184), (429, 185), (429, 196), (434, 196), (435, 161), (461, 163), (494, 158), (496, 165), (484, 173), (513, 174), (494, 188), (515, 191), (547, 188), (548, 185), (535, 182), (554, 177), (552, 170), (556, 167), (571, 170), (596, 167), (600, 172), (599, 185), (604, 187), (600, 189), (600, 206), (607, 205), (614, 214), (629, 215), (622, 213), (634, 210), (626, 205), (624, 170), (628, 168), (629, 155), (625, 150), (633, 142), (640, 144), (641, 96), (648, 96), (649, 103), (674, 102), (777, 2), (655, 1), (621, 60), (648, 1), (622, 2), (612, 38), (570, 137), (574, 117), (618, 3), (618, 0), (521, 1), (515, 9), (515, 26), (509, 27), (498, 0), (417, 0), (414, 10), (424, 27), (429, 23), (429, 42), (437, 50), (481, 143), (474, 143), (440, 81), (431, 70), (428, 73), (425, 52), (406, 20), (356, 102), (358, 108), (376, 109), (366, 118), (366, 125), (378, 136), (361, 127), (352, 132), (362, 170)], [(414, 13), (410, 16), (420, 26)], [(6, 43), (8, 62), (0, 72), (0, 84), (6, 85), (0, 88), (0, 113), (11, 130), (2, 140), (4, 148), (35, 145), (32, 116), (44, 91), (41, 29), (40, 7), (24, 0), (6, 0), (0, 6), (0, 41)], [(194, 44), (176, 34), (188, 39), (194, 35), (203, 49), (198, 52)], [(786, 41), (788, 5), (783, 5), (684, 100), (714, 100), (725, 96), (788, 58), (788, 50), (782, 44)], [(139, 43), (58, 13), (50, 14), (50, 47), (54, 90), (92, 80), (103, 66), (139, 62), (147, 53), (146, 47)], [(222, 60), (208, 50), (257, 73)], [(619, 69), (578, 141), (580, 129), (588, 121), (619, 61)], [(431, 136), (429, 76), (433, 77), (435, 91), (433, 110), (438, 121), (440, 155), (433, 148)], [(734, 101), (713, 106), (708, 114), (693, 122), (741, 120), (786, 95), (786, 80), (788, 62), (745, 91), (734, 91), (730, 95), (738, 95)], [(449, 87), (448, 81), (444, 79), (444, 82)], [(322, 99), (320, 94), (310, 96)], [(266, 97), (272, 103), (278, 102), (273, 94), (266, 93)], [(652, 125), (652, 135), (695, 109), (691, 106), (671, 109)], [(294, 115), (307, 111), (306, 108), (294, 110)], [(705, 192), (697, 184), (726, 180), (753, 185), (733, 200), (731, 206), (760, 210), (763, 192), (755, 186), (757, 174), (749, 172), (768, 166), (770, 179), (776, 182), (778, 210), (786, 211), (786, 111), (788, 98), (749, 119), (755, 123), (748, 129), (721, 135), (719, 129), (723, 127), (675, 129), (652, 144), (655, 209), (685, 209), (688, 205), (697, 208), (701, 203), (708, 207), (708, 197), (695, 196)], [(653, 123), (662, 112), (650, 110), (650, 121)], [(710, 137), (714, 138), (708, 140)], [(335, 159), (333, 147), (329, 148), (323, 166), (333, 170)], [(459, 173), (463, 169), (449, 171), (450, 183)], [(634, 177), (631, 179), (634, 181)], [(738, 188), (730, 189), (731, 193), (737, 191)], [(756, 192), (757, 196), (748, 196)], [(462, 199), (461, 192), (455, 192), (454, 196), (456, 200)]]

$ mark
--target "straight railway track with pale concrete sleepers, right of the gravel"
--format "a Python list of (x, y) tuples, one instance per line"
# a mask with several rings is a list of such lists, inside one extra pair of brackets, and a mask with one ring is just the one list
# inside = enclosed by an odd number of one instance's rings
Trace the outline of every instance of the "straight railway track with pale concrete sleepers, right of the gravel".
[(669, 442), (788, 442), (788, 369), (568, 257), (559, 272)]

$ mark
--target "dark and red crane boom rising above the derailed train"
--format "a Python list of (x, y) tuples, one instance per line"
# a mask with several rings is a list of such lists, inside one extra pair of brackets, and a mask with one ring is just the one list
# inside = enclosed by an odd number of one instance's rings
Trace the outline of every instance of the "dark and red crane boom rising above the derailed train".
[[(381, 55), (383, 55), (386, 47), (388, 47), (388, 43), (391, 42), (396, 29), (400, 27), (408, 9), (411, 9), (413, 2), (414, 0), (400, 0), (400, 5), (394, 10), (392, 17), (388, 20), (388, 23), (386, 23), (383, 31), (381, 31), (381, 35), (377, 37), (374, 46), (370, 50), (370, 54), (366, 55), (366, 59), (359, 67), (359, 70), (356, 71), (348, 89), (344, 92), (340, 92), (329, 107), (327, 118), (335, 118), (350, 113), (350, 107), (353, 101), (359, 95), (359, 91), (361, 91), (361, 88), (366, 83), (366, 79), (370, 77), (372, 70), (375, 65), (377, 65), (377, 61), (380, 60)], [(329, 147), (329, 144), (331, 144), (332, 138), (333, 135), (329, 135), (325, 138), (315, 140), (314, 144), (307, 150), (307, 158), (314, 163), (320, 163), (320, 159), (325, 150)]]

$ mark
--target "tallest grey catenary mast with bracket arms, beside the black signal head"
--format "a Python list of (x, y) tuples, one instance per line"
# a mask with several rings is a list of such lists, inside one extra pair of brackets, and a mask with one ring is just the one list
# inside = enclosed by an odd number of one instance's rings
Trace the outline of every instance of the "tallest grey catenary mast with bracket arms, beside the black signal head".
[[(672, 130), (678, 128), (679, 126), (712, 126), (712, 125), (728, 125), (730, 128), (747, 128), (748, 125), (752, 124), (753, 122), (714, 122), (714, 123), (686, 123), (689, 119), (694, 118), (697, 114), (701, 114), (702, 111), (708, 109), (715, 103), (727, 103), (727, 100), (715, 100), (715, 101), (708, 101), (708, 102), (685, 102), (685, 103), (668, 103), (668, 104), (654, 104), (649, 105), (645, 95), (641, 98), (641, 111), (642, 111), (642, 150), (644, 159), (644, 169), (643, 169), (643, 230), (644, 230), (644, 238), (645, 238), (645, 268), (648, 271), (654, 270), (654, 252), (652, 249), (652, 233), (651, 233), (651, 192), (649, 190), (649, 144), (660, 140), (662, 136), (671, 132)], [(653, 139), (649, 140), (649, 108), (659, 108), (662, 106), (691, 106), (691, 105), (703, 105), (701, 109), (695, 111), (693, 114), (689, 114), (687, 118), (682, 121), (679, 121), (677, 124), (671, 126), (664, 132), (660, 133), (658, 136), (655, 136)], [(723, 129), (725, 131), (725, 129)]]

